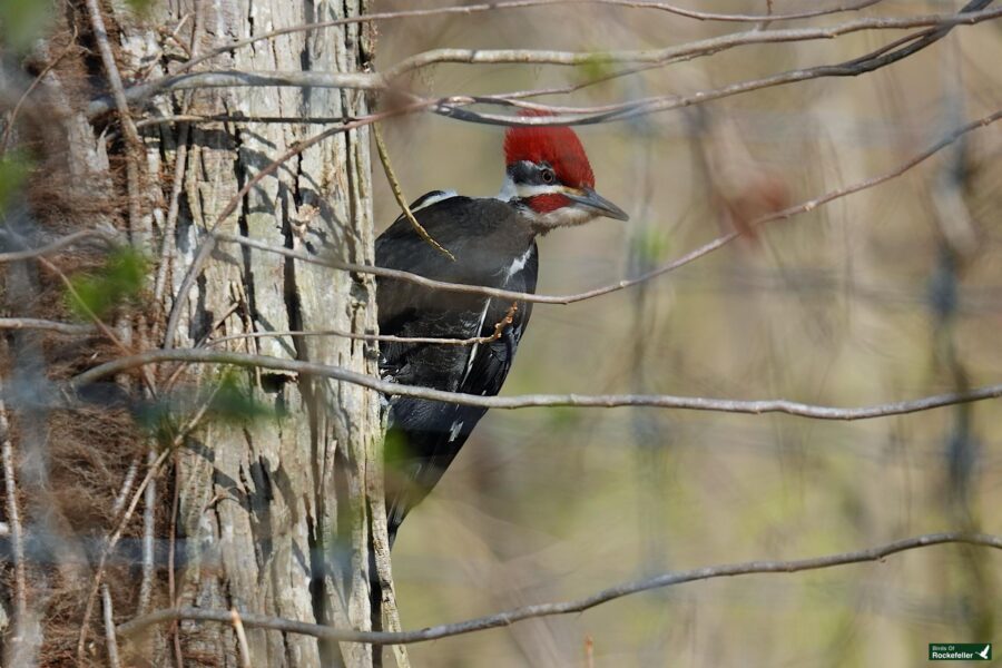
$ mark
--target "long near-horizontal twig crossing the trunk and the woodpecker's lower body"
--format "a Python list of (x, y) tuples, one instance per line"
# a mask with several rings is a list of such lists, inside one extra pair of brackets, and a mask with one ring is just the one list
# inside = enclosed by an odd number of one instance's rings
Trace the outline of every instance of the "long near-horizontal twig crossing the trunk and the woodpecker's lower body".
[(859, 407), (823, 406), (787, 401), (784, 399), (741, 401), (730, 399), (707, 399), (704, 396), (675, 396), (670, 394), (523, 394), (517, 396), (481, 396), (479, 394), (462, 394), (443, 390), (432, 390), (430, 387), (420, 387), (416, 385), (402, 385), (350, 371), (341, 366), (318, 364), (315, 362), (198, 348), (171, 351), (154, 350), (128, 357), (118, 357), (73, 376), (69, 381), (67, 389), (76, 391), (98, 379), (116, 373), (122, 373), (129, 369), (140, 367), (146, 364), (157, 364), (159, 362), (233, 364), (236, 366), (274, 369), (343, 381), (345, 383), (369, 387), (370, 390), (375, 390), (376, 392), (382, 392), (387, 395), (413, 396), (415, 399), (425, 399), (429, 401), (439, 401), (464, 406), (505, 410), (542, 406), (605, 409), (619, 406), (649, 406), (688, 411), (745, 413), (752, 415), (760, 415), (763, 413), (786, 413), (788, 415), (812, 418), (815, 420), (853, 421), (887, 418), (891, 415), (905, 415), (960, 403), (985, 401), (1002, 396), (1002, 384), (988, 385), (971, 390), (970, 392), (951, 392), (911, 401), (898, 401)]

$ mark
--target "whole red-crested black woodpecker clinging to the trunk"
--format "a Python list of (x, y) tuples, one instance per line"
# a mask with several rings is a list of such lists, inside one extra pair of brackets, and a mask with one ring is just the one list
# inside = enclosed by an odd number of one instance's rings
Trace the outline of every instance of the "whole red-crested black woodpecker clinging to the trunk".
[[(428, 278), (536, 292), (536, 237), (599, 216), (627, 214), (595, 191), (595, 175), (573, 130), (511, 127), (504, 136), (507, 176), (493, 198), (435, 190), (411, 207), (429, 235), (455, 257), (422, 239), (401, 216), (376, 239), (376, 264)], [(433, 291), (379, 278), (380, 332), (402, 337), (489, 338), (474, 345), (384, 343), (380, 373), (407, 385), (493, 396), (511, 370), (531, 304)], [(390, 400), (386, 514), (390, 544), (401, 522), (439, 482), (485, 409), (407, 396)]]

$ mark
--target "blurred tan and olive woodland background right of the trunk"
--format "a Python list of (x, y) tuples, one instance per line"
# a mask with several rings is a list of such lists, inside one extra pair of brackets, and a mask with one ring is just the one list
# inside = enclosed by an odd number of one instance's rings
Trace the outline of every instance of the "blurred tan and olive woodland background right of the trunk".
[[(412, 4), (380, 1), (373, 10)], [(770, 4), (776, 13), (825, 6)], [(689, 6), (767, 10), (765, 0)], [(885, 0), (788, 26), (961, 6)], [(596, 4), (409, 19), (381, 24), (376, 65), (440, 47), (658, 48), (753, 27)], [(691, 94), (841, 62), (902, 35), (744, 47), (538, 101)], [(579, 128), (597, 189), (631, 220), (541, 239), (539, 292), (636, 275), (763, 213), (892, 170), (951, 129), (1002, 109), (999, 62), (1002, 24), (993, 21), (957, 28), (862, 77)], [(436, 95), (503, 92), (582, 82), (595, 75), (584, 69), (442, 65), (410, 85)], [(384, 132), (410, 199), (440, 188), (474, 196), (500, 188), (502, 128), (416, 115), (384, 124)], [(538, 305), (504, 394), (855, 406), (998, 383), (1000, 157), (996, 125), (895, 180), (770, 223), (640, 287)], [(376, 183), (385, 227), (399, 210), (385, 179)], [(1000, 505), (999, 402), (854, 423), (651, 409), (494, 411), (410, 515), (393, 566), (403, 626), (420, 628), (667, 570), (821, 556), (943, 530), (1000, 533)], [(930, 642), (1002, 641), (1000, 566), (989, 550), (936, 547), (880, 563), (685, 584), (410, 651), (416, 666), (456, 668), (913, 666), (926, 660)]]

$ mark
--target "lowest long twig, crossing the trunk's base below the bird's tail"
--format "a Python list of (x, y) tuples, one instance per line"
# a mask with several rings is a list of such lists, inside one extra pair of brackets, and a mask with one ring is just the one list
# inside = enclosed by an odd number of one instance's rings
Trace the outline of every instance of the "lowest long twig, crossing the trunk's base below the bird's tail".
[[(252, 628), (256, 627), (274, 629), (287, 633), (303, 633), (305, 636), (313, 636), (315, 638), (323, 638), (343, 642), (371, 642), (373, 645), (425, 642), (429, 640), (439, 640), (441, 638), (449, 638), (463, 633), (473, 633), (487, 629), (507, 627), (524, 619), (583, 612), (590, 608), (595, 608), (596, 606), (639, 593), (641, 591), (650, 591), (652, 589), (661, 589), (665, 587), (675, 587), (677, 584), (695, 582), (698, 580), (731, 578), (736, 576), (747, 576), (753, 573), (793, 573), (807, 570), (833, 568), (836, 566), (845, 566), (849, 563), (881, 561), (892, 554), (904, 552), (906, 550), (915, 550), (930, 546), (946, 543), (964, 543), (971, 546), (981, 546), (985, 548), (994, 548), (999, 550), (1002, 549), (1002, 537), (983, 533), (971, 534), (964, 532), (926, 533), (924, 536), (906, 538), (876, 548), (858, 550), (855, 552), (828, 554), (825, 557), (815, 557), (812, 559), (797, 559), (792, 561), (746, 561), (740, 563), (713, 566), (686, 571), (671, 571), (660, 576), (656, 576), (654, 578), (636, 580), (633, 582), (625, 582), (617, 587), (611, 587), (609, 589), (596, 592), (587, 598), (573, 601), (524, 606), (521, 608), (507, 610), (504, 612), (498, 612), (488, 617), (480, 617), (477, 619), (470, 619), (468, 621), (461, 621), (456, 623), (428, 627), (416, 631), (373, 632), (356, 631), (353, 629), (336, 629), (317, 623), (295, 621), (292, 619), (269, 617), (266, 615), (252, 615), (247, 612), (243, 615), (243, 622), (245, 626)], [(165, 621), (171, 621), (175, 619), (219, 621), (224, 623), (230, 622), (229, 612), (227, 610), (213, 610), (205, 608), (173, 608), (158, 610), (156, 612), (147, 615), (146, 617), (128, 621), (118, 627), (118, 632), (122, 636), (131, 636), (151, 625), (163, 623)]]

